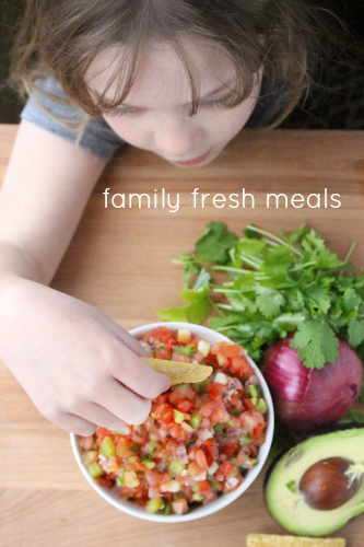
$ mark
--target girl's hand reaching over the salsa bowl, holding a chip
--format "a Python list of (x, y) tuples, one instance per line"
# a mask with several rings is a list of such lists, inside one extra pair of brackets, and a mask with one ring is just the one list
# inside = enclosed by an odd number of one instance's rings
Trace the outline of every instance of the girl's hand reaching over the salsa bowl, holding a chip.
[(141, 345), (95, 307), (13, 277), (0, 291), (0, 359), (38, 410), (84, 437), (142, 423), (169, 381)]

